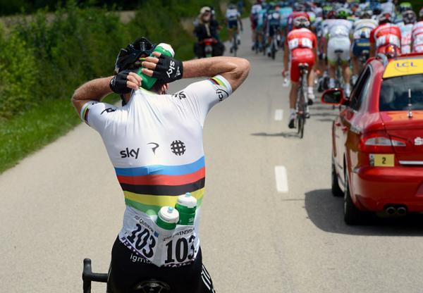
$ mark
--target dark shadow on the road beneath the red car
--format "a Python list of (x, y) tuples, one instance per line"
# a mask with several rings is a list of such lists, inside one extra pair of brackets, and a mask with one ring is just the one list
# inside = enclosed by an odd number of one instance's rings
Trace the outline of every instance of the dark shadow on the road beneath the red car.
[(423, 236), (423, 216), (369, 218), (368, 225), (348, 226), (343, 220), (343, 198), (333, 197), (330, 189), (305, 194), (305, 209), (312, 223), (326, 232), (372, 236)]

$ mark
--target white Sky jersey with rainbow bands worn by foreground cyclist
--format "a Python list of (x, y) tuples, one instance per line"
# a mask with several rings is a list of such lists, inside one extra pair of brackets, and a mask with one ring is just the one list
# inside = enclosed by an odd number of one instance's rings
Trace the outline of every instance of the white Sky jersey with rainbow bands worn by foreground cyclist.
[[(125, 195), (120, 241), (157, 266), (182, 266), (197, 256), (205, 167), (204, 120), (232, 92), (218, 75), (195, 82), (176, 94), (139, 89), (128, 104), (116, 107), (87, 102), (81, 118), (102, 136)], [(177, 225), (170, 235), (156, 225), (162, 206), (175, 206), (178, 195), (197, 199), (194, 225)]]

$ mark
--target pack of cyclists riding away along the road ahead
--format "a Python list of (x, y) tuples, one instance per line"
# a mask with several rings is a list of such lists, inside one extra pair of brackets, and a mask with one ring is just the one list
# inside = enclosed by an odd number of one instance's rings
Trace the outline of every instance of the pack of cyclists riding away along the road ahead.
[[(210, 36), (219, 39), (219, 24), (216, 25), (216, 20), (213, 23), (212, 14), (207, 7), (200, 11), (199, 25), (195, 29), (198, 44)], [(228, 5), (226, 25), (230, 39), (234, 31), (239, 37), (242, 22), (233, 4)], [(252, 50), (270, 55), (275, 36), (276, 46), (284, 49), (283, 75), (288, 77), (290, 73), (292, 83), (291, 112), (298, 90), (298, 73), (292, 68), (295, 63), (309, 63), (307, 99), (309, 104), (313, 104), (315, 77), (319, 91), (343, 87), (345, 95), (349, 96), (368, 58), (377, 54), (396, 56), (423, 51), (423, 8), (416, 15), (412, 4), (398, 4), (396, 0), (383, 3), (378, 0), (285, 0), (267, 3), (256, 0), (251, 6), (250, 25)], [(293, 47), (293, 42), (296, 42), (293, 39), (298, 38), (300, 32), (307, 35), (305, 39), (312, 40), (311, 46), (304, 47), (299, 42), (298, 47)], [(201, 53), (198, 44), (196, 47)], [(307, 52), (303, 61), (298, 61), (298, 52)]]

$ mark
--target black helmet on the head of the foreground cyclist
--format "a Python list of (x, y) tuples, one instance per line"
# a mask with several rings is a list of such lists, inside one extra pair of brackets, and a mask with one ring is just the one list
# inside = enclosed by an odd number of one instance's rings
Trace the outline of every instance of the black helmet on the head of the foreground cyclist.
[(122, 70), (133, 70), (141, 66), (142, 59), (152, 54), (156, 48), (147, 38), (141, 37), (132, 44), (128, 44), (125, 49), (121, 49), (116, 58), (115, 73)]

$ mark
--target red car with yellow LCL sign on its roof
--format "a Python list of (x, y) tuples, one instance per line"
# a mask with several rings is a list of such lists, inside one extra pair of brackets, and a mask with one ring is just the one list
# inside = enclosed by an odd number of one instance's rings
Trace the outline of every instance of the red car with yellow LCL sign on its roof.
[(349, 98), (329, 89), (321, 101), (345, 106), (332, 127), (332, 192), (344, 197), (345, 223), (423, 212), (423, 54), (370, 58)]

